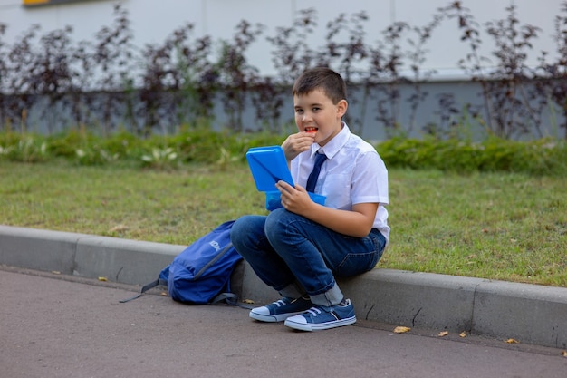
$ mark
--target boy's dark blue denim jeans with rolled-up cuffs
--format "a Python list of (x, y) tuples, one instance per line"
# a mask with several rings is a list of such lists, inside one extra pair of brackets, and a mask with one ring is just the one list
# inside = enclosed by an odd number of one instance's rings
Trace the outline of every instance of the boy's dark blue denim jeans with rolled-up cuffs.
[(335, 276), (355, 276), (374, 268), (386, 247), (376, 229), (348, 237), (278, 208), (266, 216), (235, 221), (230, 237), (255, 274), (282, 296), (307, 293), (316, 305), (337, 305), (342, 293)]

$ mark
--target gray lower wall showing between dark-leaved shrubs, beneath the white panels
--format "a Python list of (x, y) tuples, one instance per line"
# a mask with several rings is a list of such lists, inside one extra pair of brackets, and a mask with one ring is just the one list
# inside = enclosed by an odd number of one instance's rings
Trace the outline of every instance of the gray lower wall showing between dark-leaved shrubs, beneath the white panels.
[[(437, 129), (441, 136), (447, 136), (447, 132), (453, 134), (457, 132), (460, 138), (470, 137), (473, 140), (480, 140), (487, 135), (485, 126), (474, 117), (474, 114), (466, 111), (467, 104), (470, 104), (472, 109), (479, 111), (479, 117), (484, 121), (486, 120), (481, 87), (477, 82), (423, 82), (419, 84), (419, 90), (425, 92), (426, 96), (421, 102), (418, 102), (415, 110), (408, 102), (408, 98), (415, 93), (415, 87), (411, 84), (398, 85), (399, 102), (395, 103), (397, 107), (393, 108), (396, 111), (395, 120), (399, 123), (397, 130), (388, 127), (387, 123), (380, 120), (379, 102), (383, 102), (389, 111), (392, 109), (390, 108), (392, 102), (389, 102), (391, 97), (388, 97), (388, 93), (382, 92), (386, 87), (381, 86), (380, 88), (374, 87), (366, 98), (364, 98), (364, 89), (361, 86), (350, 88), (350, 106), (345, 121), (349, 123), (352, 131), (359, 133), (367, 140), (380, 141), (400, 133), (409, 137), (420, 138), (424, 135), (426, 129), (431, 129), (431, 125)], [(104, 96), (104, 94), (100, 94), (100, 96)], [(446, 98), (448, 96), (451, 101), (446, 105), (441, 105), (442, 96), (446, 96)], [(288, 94), (284, 94), (283, 99), (282, 117), (274, 123), (278, 125), (279, 131), (289, 133), (295, 130), (293, 101), (291, 95)], [(537, 103), (533, 102), (532, 106), (535, 107), (536, 105)], [(449, 108), (454, 112), (448, 111)], [(543, 109), (539, 110), (535, 119), (526, 115), (527, 113), (517, 112), (514, 117), (514, 124), (516, 126), (526, 125), (529, 132), (522, 135), (515, 133), (512, 138), (534, 139), (543, 136), (564, 138), (565, 130), (560, 126), (564, 119), (562, 113), (556, 108), (557, 106), (553, 103), (548, 103)], [(121, 109), (124, 110), (125, 107), (121, 107)], [(179, 111), (183, 112), (183, 110)], [(172, 112), (164, 110), (164, 117), (160, 118), (160, 123), (153, 127), (154, 132), (173, 133), (178, 130), (178, 123), (167, 118), (167, 114), (170, 113)], [(100, 115), (94, 114), (92, 111), (86, 111), (85, 114), (90, 114), (92, 120), (87, 121), (87, 127), (101, 131)], [(186, 121), (190, 119), (190, 115), (187, 114)], [(139, 126), (144, 121), (141, 117), (131, 120), (123, 113), (120, 114), (119, 110), (114, 112), (111, 122), (111, 129), (113, 130), (116, 130), (117, 127), (134, 130), (137, 127), (136, 125)], [(242, 114), (242, 124), (247, 131), (260, 131), (267, 127), (256, 118), (255, 105), (250, 99), (248, 99), (248, 104)], [(34, 107), (28, 111), (26, 127), (29, 131), (52, 133), (63, 131), (72, 126), (76, 126), (76, 124), (72, 120), (70, 108), (62, 102), (50, 104), (46, 99), (39, 99)], [(229, 114), (226, 113), (220, 99), (217, 99), (215, 104), (213, 127), (216, 130), (231, 127)]]

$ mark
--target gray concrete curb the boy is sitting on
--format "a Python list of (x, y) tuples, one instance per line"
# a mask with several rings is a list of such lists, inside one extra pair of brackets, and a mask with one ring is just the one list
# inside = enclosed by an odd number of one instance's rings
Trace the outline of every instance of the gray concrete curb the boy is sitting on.
[[(0, 264), (144, 285), (186, 246), (0, 226)], [(339, 280), (357, 316), (394, 325), (567, 348), (567, 288), (376, 269)], [(233, 288), (256, 303), (277, 294), (247, 264)]]

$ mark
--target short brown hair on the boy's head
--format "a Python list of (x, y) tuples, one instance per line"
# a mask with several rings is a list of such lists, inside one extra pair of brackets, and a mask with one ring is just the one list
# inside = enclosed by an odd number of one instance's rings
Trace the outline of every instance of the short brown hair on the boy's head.
[(347, 99), (347, 85), (339, 73), (327, 67), (315, 67), (304, 71), (293, 83), (293, 96), (308, 94), (321, 89), (332, 103)]

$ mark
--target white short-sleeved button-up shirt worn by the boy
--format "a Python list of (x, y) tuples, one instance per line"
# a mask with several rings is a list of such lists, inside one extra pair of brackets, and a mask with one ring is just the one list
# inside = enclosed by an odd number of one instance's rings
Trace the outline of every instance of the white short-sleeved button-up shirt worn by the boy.
[(322, 149), (327, 160), (315, 186), (315, 193), (326, 196), (325, 206), (352, 210), (357, 203), (380, 205), (372, 228), (389, 238), (388, 170), (378, 152), (367, 141), (352, 134), (346, 123), (342, 130), (325, 147), (313, 143), (311, 150), (300, 153), (291, 162), (293, 182), (305, 187), (315, 162), (315, 153)]

